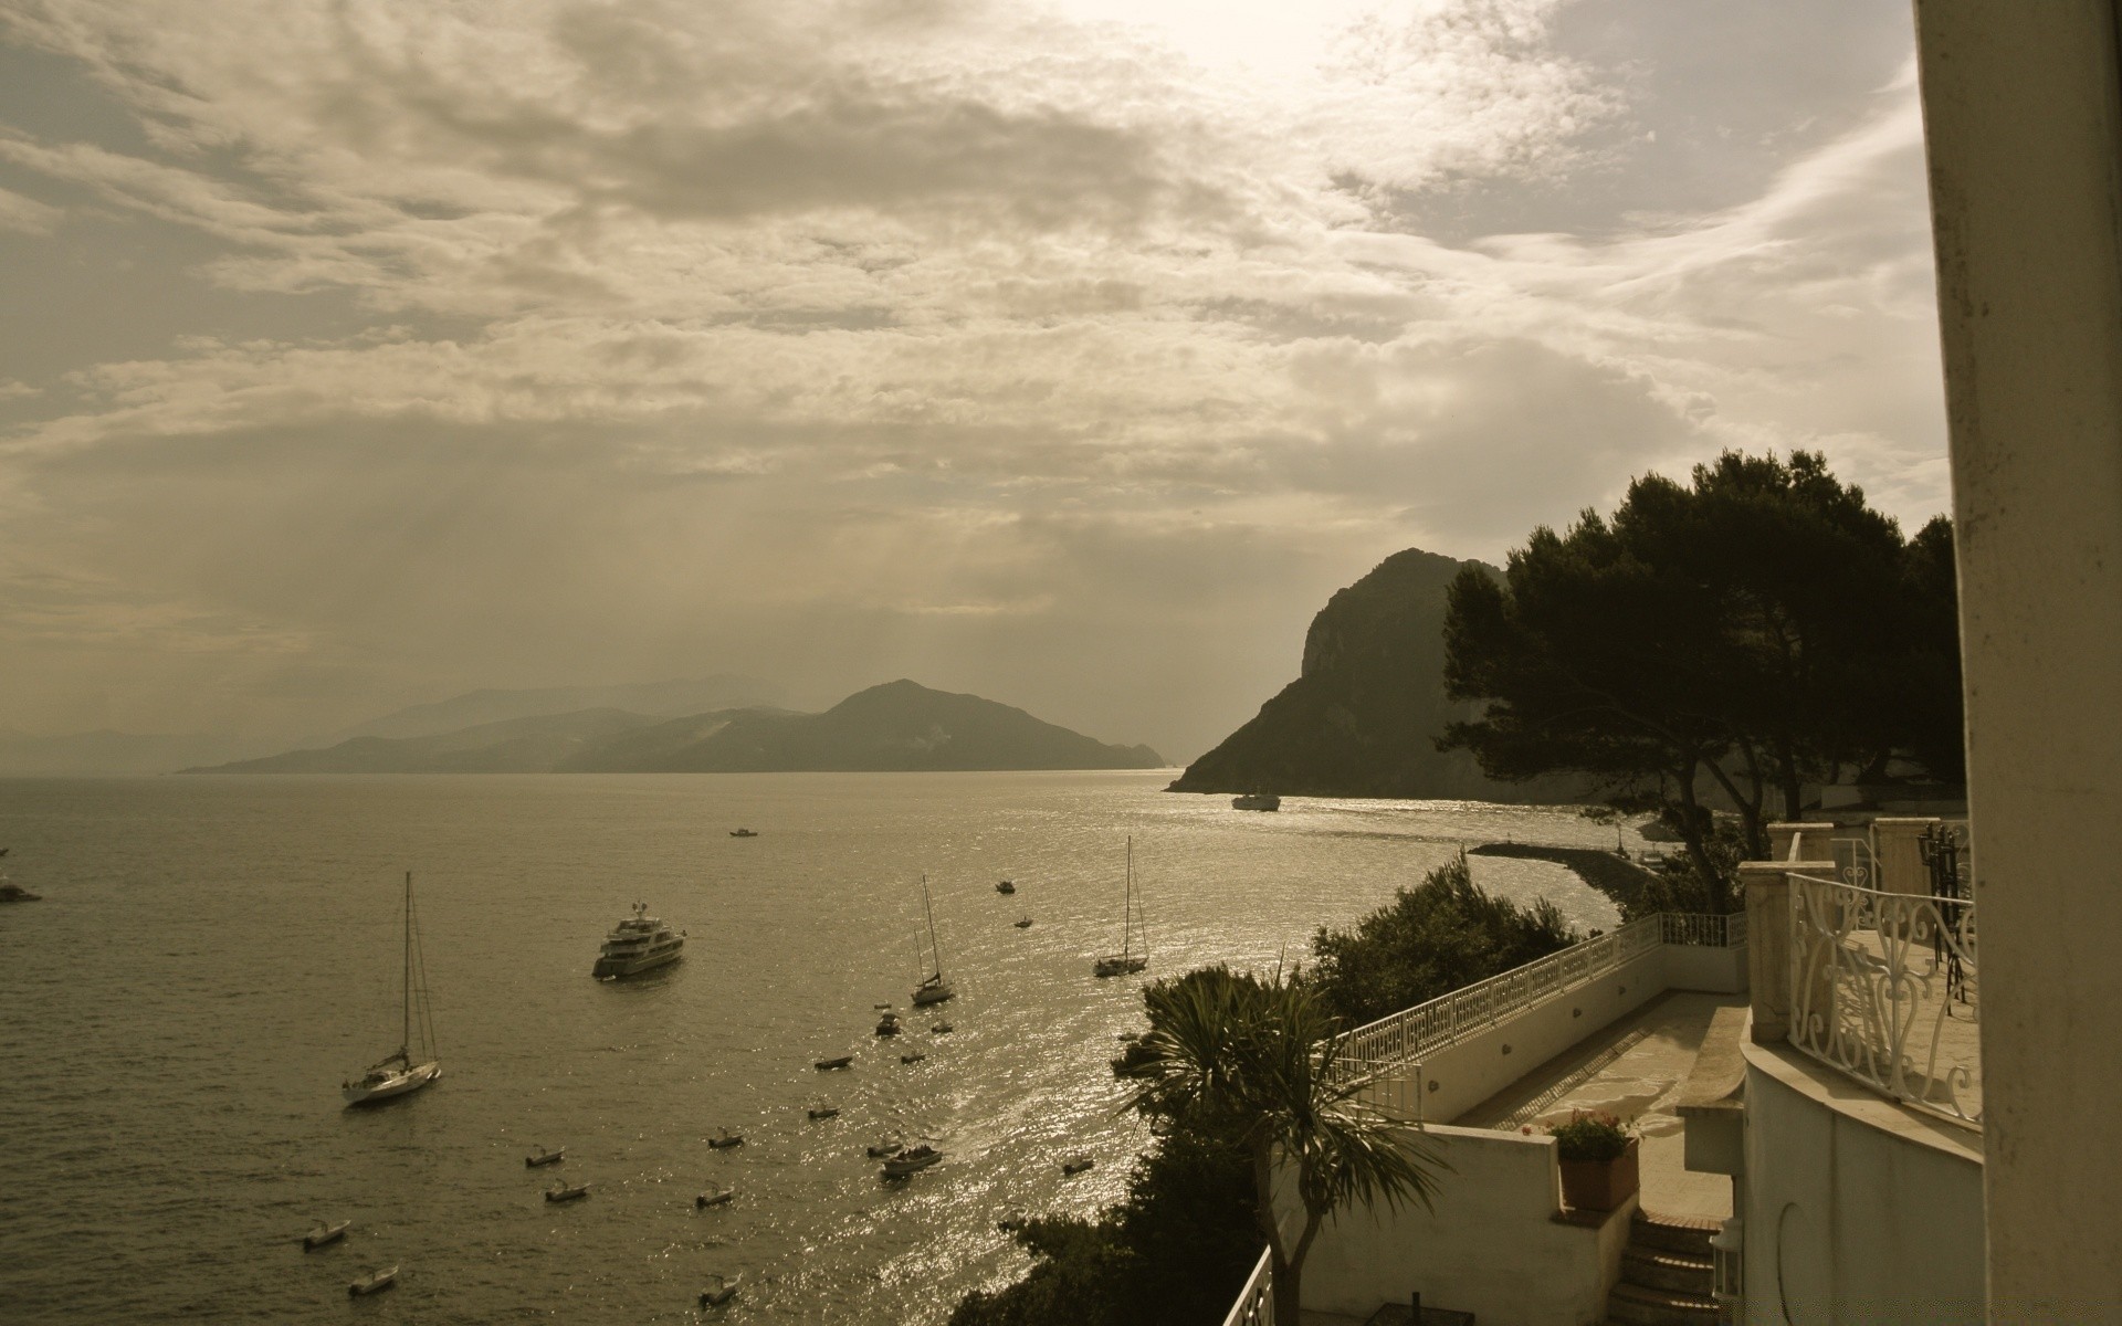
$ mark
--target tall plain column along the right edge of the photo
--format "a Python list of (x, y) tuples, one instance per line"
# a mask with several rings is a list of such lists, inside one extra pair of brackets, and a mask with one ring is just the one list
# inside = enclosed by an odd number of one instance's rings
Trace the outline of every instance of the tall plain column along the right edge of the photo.
[(1916, 0), (1982, 934), (1990, 1320), (2122, 1311), (2114, 0)]

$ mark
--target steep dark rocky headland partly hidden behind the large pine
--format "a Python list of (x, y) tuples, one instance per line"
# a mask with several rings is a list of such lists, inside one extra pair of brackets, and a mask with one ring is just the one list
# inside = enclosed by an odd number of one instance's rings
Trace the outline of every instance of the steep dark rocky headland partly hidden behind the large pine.
[(1498, 783), (1466, 751), (1434, 736), (1475, 704), (1445, 698), (1445, 590), (1460, 566), (1432, 552), (1396, 552), (1311, 617), (1297, 681), (1201, 755), (1171, 791), (1288, 796), (1572, 800), (1560, 783)]

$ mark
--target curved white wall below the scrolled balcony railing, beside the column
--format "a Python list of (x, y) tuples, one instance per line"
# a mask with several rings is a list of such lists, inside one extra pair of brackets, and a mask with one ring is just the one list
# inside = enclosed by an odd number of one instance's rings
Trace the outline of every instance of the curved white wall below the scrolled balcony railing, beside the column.
[(1746, 1322), (1980, 1322), (1980, 1135), (1795, 1050), (1742, 1052)]

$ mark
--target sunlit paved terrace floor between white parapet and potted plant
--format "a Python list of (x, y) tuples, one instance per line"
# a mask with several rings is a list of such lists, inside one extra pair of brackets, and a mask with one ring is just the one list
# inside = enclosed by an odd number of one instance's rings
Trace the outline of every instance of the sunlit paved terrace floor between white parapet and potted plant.
[(1732, 1214), (1732, 1180), (1683, 1165), (1681, 1116), (1674, 1105), (1695, 1065), (1695, 1050), (1719, 1008), (1744, 1006), (1746, 995), (1674, 991), (1638, 1008), (1538, 1065), (1451, 1122), (1462, 1129), (1532, 1129), (1566, 1120), (1577, 1110), (1604, 1110), (1642, 1137), (1642, 1209), (1657, 1216), (1723, 1220)]

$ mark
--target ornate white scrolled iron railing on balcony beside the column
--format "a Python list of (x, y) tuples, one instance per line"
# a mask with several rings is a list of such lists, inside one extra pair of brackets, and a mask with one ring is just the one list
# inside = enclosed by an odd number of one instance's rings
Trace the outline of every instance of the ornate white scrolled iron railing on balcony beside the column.
[(1791, 876), (1791, 1044), (1982, 1127), (1976, 904)]

